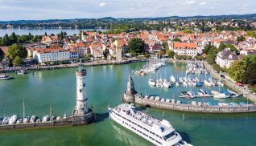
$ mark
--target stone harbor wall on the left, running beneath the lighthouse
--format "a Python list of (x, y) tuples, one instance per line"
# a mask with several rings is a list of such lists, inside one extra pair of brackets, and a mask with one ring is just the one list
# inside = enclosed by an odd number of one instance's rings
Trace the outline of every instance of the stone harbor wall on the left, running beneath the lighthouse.
[(58, 128), (68, 126), (81, 126), (90, 124), (95, 120), (93, 112), (89, 112), (84, 116), (68, 116), (65, 119), (53, 120), (47, 122), (35, 122), (27, 124), (4, 124), (0, 125), (0, 131), (32, 129), (32, 128)]

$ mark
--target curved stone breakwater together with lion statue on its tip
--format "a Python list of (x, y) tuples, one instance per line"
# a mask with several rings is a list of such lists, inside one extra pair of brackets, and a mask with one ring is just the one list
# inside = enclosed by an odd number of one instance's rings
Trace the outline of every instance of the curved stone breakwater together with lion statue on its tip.
[(134, 81), (129, 76), (127, 89), (122, 97), (126, 103), (138, 103), (147, 107), (163, 108), (167, 110), (175, 110), (182, 112), (203, 112), (203, 113), (245, 113), (245, 112), (256, 112), (256, 104), (246, 104), (246, 106), (218, 106), (218, 105), (192, 105), (185, 103), (170, 103), (155, 101), (152, 99), (143, 98), (142, 95), (138, 94), (134, 89)]

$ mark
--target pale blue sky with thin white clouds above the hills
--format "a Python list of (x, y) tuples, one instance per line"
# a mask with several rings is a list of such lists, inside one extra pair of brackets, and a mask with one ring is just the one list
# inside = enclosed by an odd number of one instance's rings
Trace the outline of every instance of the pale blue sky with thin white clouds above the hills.
[(0, 0), (0, 20), (256, 14), (256, 0)]

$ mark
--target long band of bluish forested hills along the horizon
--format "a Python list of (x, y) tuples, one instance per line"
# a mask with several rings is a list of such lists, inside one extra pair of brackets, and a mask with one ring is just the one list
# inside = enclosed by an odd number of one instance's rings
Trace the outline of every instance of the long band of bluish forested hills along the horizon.
[(81, 28), (111, 28), (111, 25), (124, 25), (134, 24), (140, 22), (151, 22), (151, 21), (170, 21), (170, 20), (183, 20), (183, 21), (226, 21), (231, 19), (248, 20), (250, 22), (256, 22), (256, 14), (242, 14), (242, 15), (211, 15), (211, 16), (191, 16), (191, 17), (159, 17), (159, 18), (75, 18), (75, 19), (48, 19), (48, 20), (17, 20), (17, 21), (0, 21), (0, 28), (6, 28), (7, 24), (14, 28), (54, 28), (54, 27), (67, 27), (78, 29)]

